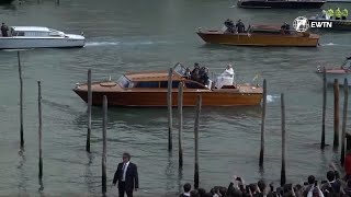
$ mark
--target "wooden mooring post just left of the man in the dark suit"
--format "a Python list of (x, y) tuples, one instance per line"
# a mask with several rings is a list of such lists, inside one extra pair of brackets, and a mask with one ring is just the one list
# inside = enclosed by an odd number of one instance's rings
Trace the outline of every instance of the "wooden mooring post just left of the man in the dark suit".
[(106, 125), (107, 125), (107, 97), (103, 96), (102, 103), (102, 194), (105, 195), (107, 190), (106, 186)]

